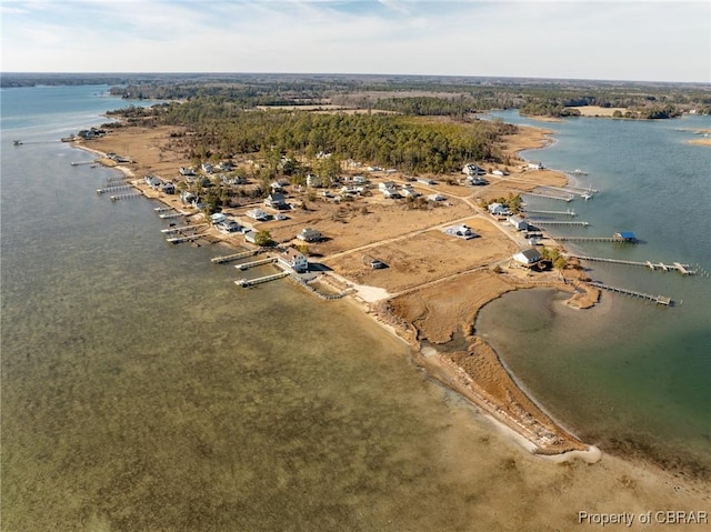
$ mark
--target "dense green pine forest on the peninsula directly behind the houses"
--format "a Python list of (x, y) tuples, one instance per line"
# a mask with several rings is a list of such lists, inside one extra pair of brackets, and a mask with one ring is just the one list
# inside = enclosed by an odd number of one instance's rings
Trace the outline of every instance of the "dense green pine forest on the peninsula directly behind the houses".
[(193, 98), (140, 113), (153, 123), (188, 128), (196, 160), (260, 152), (274, 168), (282, 157), (316, 161), (328, 153), (412, 173), (445, 173), (474, 160), (503, 162), (494, 143), (515, 132), (514, 126), (495, 121), (244, 109), (223, 97)]

